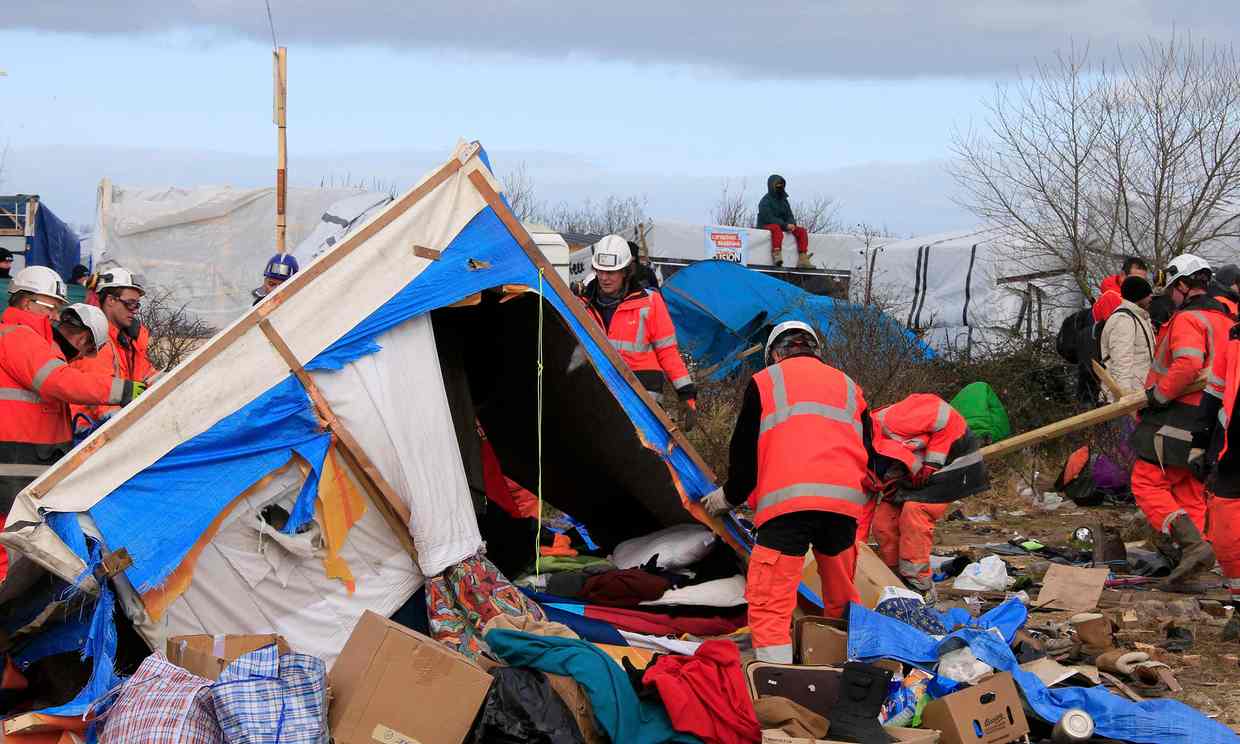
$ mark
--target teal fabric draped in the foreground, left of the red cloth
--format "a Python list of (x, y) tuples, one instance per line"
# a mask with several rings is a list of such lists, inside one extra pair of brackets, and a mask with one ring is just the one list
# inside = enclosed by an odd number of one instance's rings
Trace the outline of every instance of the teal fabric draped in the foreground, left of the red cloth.
[(701, 743), (697, 737), (672, 729), (662, 704), (639, 699), (620, 665), (594, 644), (516, 630), (492, 630), (486, 634), (485, 640), (491, 651), (511, 666), (577, 680), (594, 706), (594, 717), (599, 720), (599, 725), (613, 742)]

